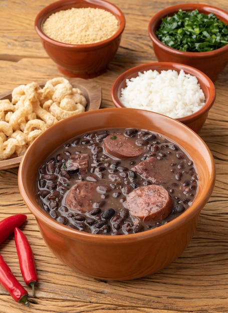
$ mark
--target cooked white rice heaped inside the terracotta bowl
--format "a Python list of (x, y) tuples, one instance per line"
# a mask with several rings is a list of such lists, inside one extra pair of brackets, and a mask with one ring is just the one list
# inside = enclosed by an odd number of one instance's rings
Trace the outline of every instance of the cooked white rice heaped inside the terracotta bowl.
[(135, 78), (126, 79), (121, 90), (121, 102), (126, 107), (145, 109), (180, 118), (199, 110), (205, 95), (195, 76), (184, 70), (147, 70)]

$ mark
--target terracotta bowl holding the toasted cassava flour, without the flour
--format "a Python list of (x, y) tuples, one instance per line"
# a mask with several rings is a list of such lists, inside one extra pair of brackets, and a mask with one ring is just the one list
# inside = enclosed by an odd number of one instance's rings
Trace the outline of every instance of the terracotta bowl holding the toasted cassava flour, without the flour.
[[(119, 28), (106, 40), (91, 44), (68, 44), (53, 40), (43, 31), (45, 20), (60, 10), (72, 7), (94, 7), (110, 11), (119, 21)], [(102, 74), (117, 52), (121, 34), (125, 27), (125, 17), (114, 4), (105, 0), (60, 0), (44, 7), (37, 15), (35, 29), (48, 55), (58, 69), (68, 76), (91, 78)]]

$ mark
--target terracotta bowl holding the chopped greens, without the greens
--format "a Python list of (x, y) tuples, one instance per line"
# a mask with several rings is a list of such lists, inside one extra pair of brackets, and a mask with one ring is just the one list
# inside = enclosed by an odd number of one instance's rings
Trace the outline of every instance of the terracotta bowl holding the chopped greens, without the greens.
[(170, 61), (191, 65), (203, 71), (213, 81), (217, 79), (218, 74), (228, 62), (228, 44), (216, 50), (207, 52), (185, 52), (173, 49), (163, 44), (156, 36), (156, 30), (161, 24), (161, 19), (166, 16), (172, 16), (179, 9), (191, 11), (198, 9), (199, 12), (209, 14), (214, 13), (217, 18), (228, 24), (228, 12), (218, 7), (199, 3), (183, 3), (166, 7), (155, 13), (149, 21), (148, 33), (152, 40), (154, 53), (158, 61)]

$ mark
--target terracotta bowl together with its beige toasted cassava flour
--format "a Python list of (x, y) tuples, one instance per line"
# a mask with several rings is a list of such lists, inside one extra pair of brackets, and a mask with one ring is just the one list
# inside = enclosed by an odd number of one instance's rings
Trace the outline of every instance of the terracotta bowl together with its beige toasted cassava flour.
[(125, 27), (122, 11), (103, 0), (60, 0), (44, 7), (35, 29), (58, 69), (72, 77), (102, 74)]

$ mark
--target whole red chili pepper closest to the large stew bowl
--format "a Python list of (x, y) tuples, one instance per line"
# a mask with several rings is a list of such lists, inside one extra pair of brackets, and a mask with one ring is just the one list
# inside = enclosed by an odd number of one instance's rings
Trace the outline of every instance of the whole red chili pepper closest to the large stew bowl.
[(14, 234), (22, 275), (25, 282), (32, 287), (33, 296), (35, 296), (35, 285), (38, 283), (38, 276), (32, 248), (26, 235), (18, 227), (15, 227)]

